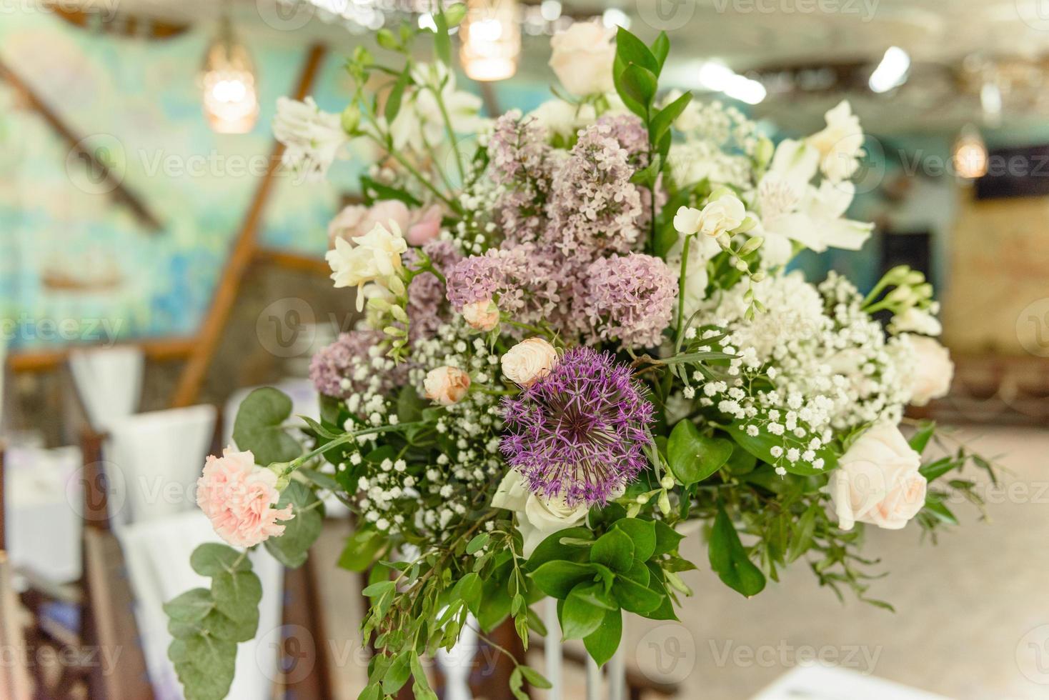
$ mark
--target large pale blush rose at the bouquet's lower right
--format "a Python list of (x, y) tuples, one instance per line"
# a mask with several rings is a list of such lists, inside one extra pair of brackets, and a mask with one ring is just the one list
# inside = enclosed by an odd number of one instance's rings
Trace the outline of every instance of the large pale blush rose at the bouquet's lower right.
[(921, 459), (899, 429), (881, 423), (869, 429), (838, 460), (830, 493), (838, 527), (858, 521), (898, 530), (925, 504)]

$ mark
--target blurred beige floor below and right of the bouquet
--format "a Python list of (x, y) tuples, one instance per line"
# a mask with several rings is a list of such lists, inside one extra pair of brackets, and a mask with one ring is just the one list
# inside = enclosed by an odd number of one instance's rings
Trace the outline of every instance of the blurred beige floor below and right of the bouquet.
[[(890, 572), (871, 594), (892, 603), (895, 614), (838, 603), (804, 565), (745, 599), (709, 571), (695, 535), (686, 550), (701, 570), (687, 576), (695, 595), (680, 612), (682, 624), (633, 620), (628, 662), (654, 679), (680, 681), (682, 697), (704, 700), (745, 700), (814, 653), (959, 700), (1049, 698), (1049, 432), (972, 429), (962, 436), (1000, 457), (1010, 471), (1006, 487), (985, 490), (990, 522), (958, 505), (962, 527), (937, 546), (920, 542), (916, 527), (868, 530), (868, 552)], [(338, 533), (324, 546), (324, 561), (334, 561)], [(347, 653), (357, 649), (357, 579), (333, 569), (324, 586), (343, 660), (341, 697), (352, 698), (364, 676), (362, 657)], [(581, 688), (581, 674), (566, 682)]]

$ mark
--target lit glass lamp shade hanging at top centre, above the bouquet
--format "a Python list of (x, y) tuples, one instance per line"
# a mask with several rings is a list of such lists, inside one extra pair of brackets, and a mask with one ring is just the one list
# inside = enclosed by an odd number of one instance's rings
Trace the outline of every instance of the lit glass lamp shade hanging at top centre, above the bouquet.
[(459, 59), (475, 81), (501, 81), (517, 72), (521, 29), (517, 0), (470, 0)]

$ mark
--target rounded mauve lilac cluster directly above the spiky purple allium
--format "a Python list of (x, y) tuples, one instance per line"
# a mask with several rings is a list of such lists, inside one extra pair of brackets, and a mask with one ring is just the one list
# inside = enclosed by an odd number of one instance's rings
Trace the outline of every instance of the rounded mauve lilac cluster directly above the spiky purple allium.
[(578, 303), (594, 340), (651, 347), (670, 325), (677, 297), (678, 278), (665, 262), (631, 253), (591, 263), (586, 292)]

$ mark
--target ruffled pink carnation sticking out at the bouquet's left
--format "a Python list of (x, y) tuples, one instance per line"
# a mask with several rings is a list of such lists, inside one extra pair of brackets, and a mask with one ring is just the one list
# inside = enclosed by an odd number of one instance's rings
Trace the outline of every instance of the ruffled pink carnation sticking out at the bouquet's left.
[(256, 466), (251, 452), (227, 447), (221, 457), (209, 455), (197, 480), (197, 505), (234, 547), (253, 547), (284, 533), (277, 521), (294, 516), (292, 506), (272, 507), (279, 500), (277, 475)]

